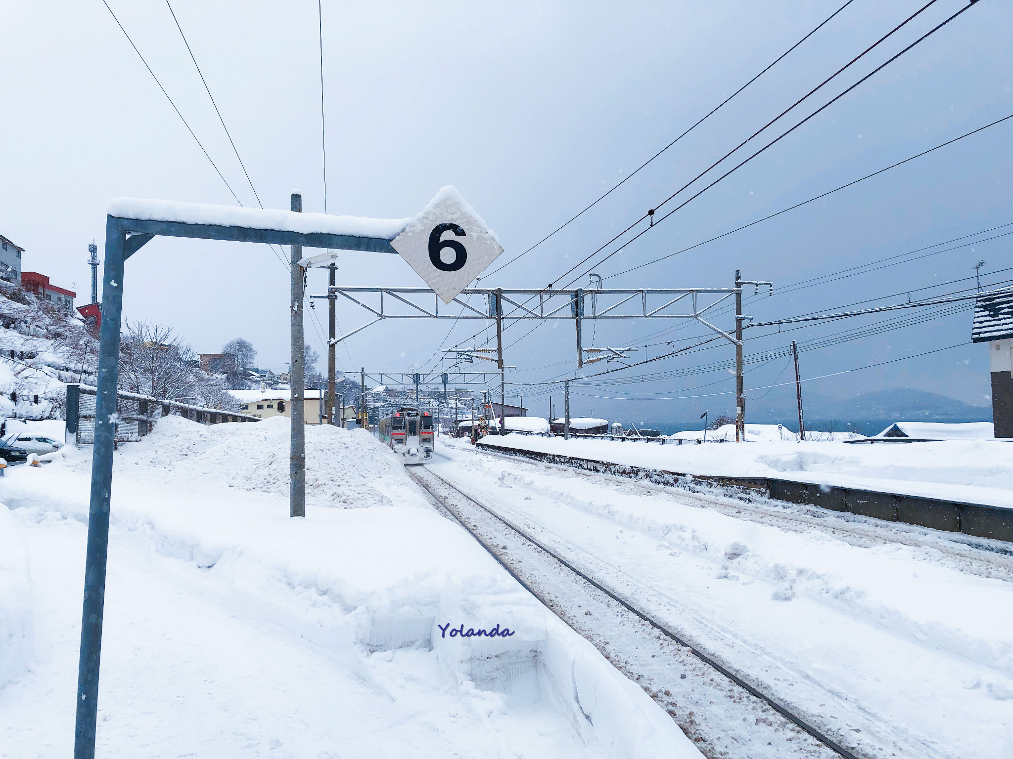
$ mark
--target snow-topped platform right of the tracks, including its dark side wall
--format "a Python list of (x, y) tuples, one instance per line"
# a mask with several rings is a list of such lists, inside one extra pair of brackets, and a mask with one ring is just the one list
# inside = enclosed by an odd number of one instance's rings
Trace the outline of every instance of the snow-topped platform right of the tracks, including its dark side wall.
[(793, 503), (1013, 540), (1013, 448), (995, 440), (659, 445), (510, 434), (479, 445), (663, 484), (746, 488)]

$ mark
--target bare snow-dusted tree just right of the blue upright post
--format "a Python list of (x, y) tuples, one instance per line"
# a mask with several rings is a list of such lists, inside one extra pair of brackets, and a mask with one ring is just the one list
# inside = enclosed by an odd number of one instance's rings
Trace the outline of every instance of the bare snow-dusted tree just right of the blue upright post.
[(197, 353), (171, 327), (127, 322), (120, 340), (120, 387), (171, 401), (194, 385)]

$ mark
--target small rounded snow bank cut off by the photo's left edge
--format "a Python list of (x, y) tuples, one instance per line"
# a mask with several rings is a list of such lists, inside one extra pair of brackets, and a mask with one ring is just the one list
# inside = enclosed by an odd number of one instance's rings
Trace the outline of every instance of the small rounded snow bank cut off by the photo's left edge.
[(28, 552), (10, 511), (0, 504), (0, 687), (26, 669), (30, 644)]

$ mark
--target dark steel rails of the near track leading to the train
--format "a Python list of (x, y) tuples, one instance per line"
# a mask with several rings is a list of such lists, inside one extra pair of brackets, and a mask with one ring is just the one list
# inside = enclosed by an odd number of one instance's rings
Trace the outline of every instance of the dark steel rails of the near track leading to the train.
[[(521, 578), (519, 578), (517, 576), (517, 574), (514, 573), (513, 570), (511, 570), (510, 568), (506, 567), (506, 565), (499, 559), (499, 557), (497, 557), (495, 555), (495, 553), (491, 549), (489, 549), (488, 545), (486, 545), (485, 541), (482, 540), (482, 538), (475, 532), (475, 530), (471, 529), (468, 525), (466, 525), (464, 523), (463, 517), (461, 517), (459, 514), (455, 513), (454, 510), (449, 505), (447, 505), (447, 503), (444, 501), (443, 498), (441, 498), (437, 493), (433, 492), (433, 490), (428, 487), (428, 485), (423, 481), (422, 478), (420, 478), (414, 472), (412, 472), (410, 470), (407, 470), (407, 468), (406, 468), (406, 471), (412, 477), (412, 479), (416, 483), (418, 483), (419, 486), (423, 490), (425, 490), (426, 493), (428, 493), (431, 496), (433, 496), (435, 499), (437, 499), (437, 501), (439, 503), (441, 503), (444, 506), (444, 508), (447, 509), (447, 511), (450, 511), (455, 516), (455, 518), (458, 521), (458, 523), (461, 524), (461, 526), (463, 526), (472, 535), (472, 537), (474, 537), (478, 541), (478, 543), (482, 547), (484, 547), (486, 551), (488, 551), (489, 554), (492, 555), (493, 559), (495, 559), (500, 565), (502, 565), (504, 568), (506, 568), (506, 570), (511, 573), (511, 575), (513, 575), (515, 579), (517, 579), (525, 588), (527, 588), (528, 591), (532, 593), (532, 595), (534, 595), (536, 598), (538, 598), (543, 603), (545, 603), (545, 601), (542, 599), (542, 597), (535, 590), (533, 590), (530, 585), (528, 585), (526, 582), (524, 582), (523, 580), (521, 580)], [(564, 566), (566, 569), (568, 569), (574, 575), (576, 575), (577, 577), (579, 577), (580, 579), (582, 579), (585, 582), (589, 583), (590, 585), (594, 586), (595, 588), (597, 588), (601, 592), (605, 593), (607, 596), (609, 596), (609, 598), (611, 598), (616, 603), (618, 603), (621, 606), (623, 606), (626, 610), (628, 610), (631, 613), (635, 614), (636, 616), (640, 617), (645, 622), (647, 622), (648, 624), (650, 624), (652, 627), (654, 627), (655, 629), (657, 629), (663, 635), (665, 635), (668, 638), (670, 638), (673, 641), (675, 641), (677, 644), (679, 644), (683, 648), (689, 649), (693, 653), (693, 655), (695, 657), (697, 657), (700, 661), (704, 662), (705, 664), (709, 665), (713, 669), (717, 670), (717, 672), (719, 672), (724, 677), (727, 677), (729, 680), (731, 680), (736, 685), (738, 685), (738, 687), (741, 687), (744, 690), (746, 690), (747, 692), (749, 692), (755, 698), (759, 698), (760, 700), (762, 700), (764, 703), (766, 703), (772, 709), (774, 709), (779, 714), (781, 714), (782, 716), (784, 716), (786, 720), (789, 720), (790, 722), (792, 722), (795, 725), (797, 725), (799, 728), (801, 728), (806, 733), (808, 733), (810, 736), (812, 736), (812, 738), (814, 738), (815, 740), (820, 741), (820, 743), (824, 744), (825, 746), (827, 746), (828, 748), (830, 748), (831, 750), (833, 750), (834, 752), (836, 752), (840, 756), (845, 757), (845, 759), (859, 759), (859, 757), (857, 755), (851, 753), (848, 749), (846, 749), (843, 746), (841, 746), (840, 744), (838, 744), (832, 738), (830, 738), (830, 737), (824, 735), (823, 733), (821, 733), (816, 728), (814, 728), (813, 726), (809, 725), (802, 718), (800, 718), (797, 714), (789, 711), (787, 708), (785, 708), (780, 703), (778, 703), (777, 701), (775, 701), (772, 697), (770, 697), (768, 695), (765, 695), (760, 690), (758, 690), (754, 686), (750, 685), (748, 682), (746, 682), (745, 680), (743, 680), (741, 677), (738, 677), (737, 675), (735, 675), (733, 672), (729, 671), (727, 668), (723, 667), (721, 664), (719, 664), (714, 659), (712, 659), (711, 657), (709, 657), (703, 651), (701, 651), (697, 647), (693, 646), (692, 644), (688, 643), (683, 638), (681, 638), (680, 636), (678, 636), (677, 634), (673, 632), (671, 629), (669, 629), (668, 627), (666, 627), (664, 624), (661, 624), (660, 622), (654, 620), (648, 614), (644, 613), (640, 609), (638, 609), (635, 606), (631, 605), (629, 602), (627, 602), (624, 599), (620, 598), (618, 595), (616, 595), (615, 593), (613, 593), (608, 588), (602, 586), (596, 580), (594, 580), (593, 578), (591, 578), (588, 575), (586, 575), (583, 572), (581, 572), (580, 570), (578, 570), (576, 567), (574, 567), (572, 564), (570, 564), (565, 559), (563, 559), (562, 557), (560, 557), (558, 554), (556, 554), (555, 552), (553, 552), (551, 549), (548, 549), (545, 545), (543, 545), (541, 542), (539, 542), (534, 537), (532, 537), (531, 535), (529, 535), (527, 532), (525, 532), (524, 530), (522, 530), (520, 527), (518, 527), (517, 525), (515, 525), (509, 519), (500, 516), (498, 513), (496, 513), (495, 511), (493, 511), (492, 509), (490, 509), (488, 506), (485, 506), (484, 504), (479, 503), (472, 496), (469, 496), (467, 493), (465, 493), (464, 491), (462, 491), (457, 486), (452, 485), (451, 483), (449, 483), (444, 478), (440, 477), (440, 475), (438, 475), (437, 473), (433, 472), (432, 470), (426, 469), (426, 472), (427, 472), (427, 474), (432, 475), (437, 480), (439, 480), (440, 482), (442, 482), (444, 485), (446, 485), (448, 488), (450, 488), (451, 490), (453, 490), (456, 493), (460, 494), (462, 497), (464, 497), (465, 499), (467, 499), (471, 503), (473, 503), (476, 506), (478, 506), (480, 509), (482, 509), (483, 511), (485, 511), (491, 517), (493, 517), (494, 519), (502, 522), (508, 528), (510, 528), (513, 531), (517, 532), (517, 534), (519, 534), (523, 539), (527, 540), (531, 544), (533, 544), (536, 547), (538, 547), (539, 550), (541, 550), (543, 553), (545, 553), (548, 556), (552, 557), (555, 561), (557, 561), (559, 564), (561, 564), (562, 566)]]

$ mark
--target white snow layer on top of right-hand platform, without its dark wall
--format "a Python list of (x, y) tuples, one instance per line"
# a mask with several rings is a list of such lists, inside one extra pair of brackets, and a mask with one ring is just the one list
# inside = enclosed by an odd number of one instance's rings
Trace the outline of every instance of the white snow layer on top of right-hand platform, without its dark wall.
[(1010, 443), (944, 440), (868, 445), (761, 439), (736, 445), (712, 444), (711, 434), (708, 431), (704, 445), (695, 444), (695, 436), (682, 445), (535, 435), (487, 437), (482, 442), (692, 475), (776, 477), (1013, 508)]

